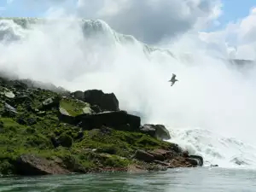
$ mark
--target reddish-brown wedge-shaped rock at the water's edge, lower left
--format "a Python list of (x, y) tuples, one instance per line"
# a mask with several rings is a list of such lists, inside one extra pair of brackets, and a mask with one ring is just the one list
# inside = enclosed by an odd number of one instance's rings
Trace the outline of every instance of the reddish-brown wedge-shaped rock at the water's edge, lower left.
[(34, 154), (22, 154), (16, 160), (15, 166), (18, 174), (26, 176), (69, 173), (55, 162)]

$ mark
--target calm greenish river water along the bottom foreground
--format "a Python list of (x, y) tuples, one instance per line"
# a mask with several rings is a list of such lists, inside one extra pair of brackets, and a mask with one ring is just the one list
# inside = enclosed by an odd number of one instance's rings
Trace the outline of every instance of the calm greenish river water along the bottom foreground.
[(256, 171), (185, 168), (166, 172), (103, 173), (73, 176), (1, 178), (1, 192), (249, 192), (256, 191)]

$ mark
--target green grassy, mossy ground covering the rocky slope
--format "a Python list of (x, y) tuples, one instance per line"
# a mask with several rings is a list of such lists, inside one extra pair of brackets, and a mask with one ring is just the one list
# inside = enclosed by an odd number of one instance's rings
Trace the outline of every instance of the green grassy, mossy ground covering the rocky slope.
[[(14, 162), (20, 154), (32, 153), (51, 160), (61, 159), (70, 170), (75, 165), (94, 170), (106, 166), (125, 167), (134, 163), (131, 155), (137, 148), (168, 148), (172, 145), (142, 133), (111, 128), (84, 131), (81, 138), (79, 127), (59, 122), (57, 108), (44, 113), (37, 110), (45, 99), (57, 96), (56, 93), (40, 89), (15, 90), (12, 86), (6, 86), (15, 93), (15, 98), (27, 96), (19, 100), (4, 96), (4, 86), (6, 84), (0, 86), (0, 172), (3, 174), (15, 173)], [(3, 113), (4, 102), (15, 107), (18, 114)], [(90, 105), (72, 98), (61, 99), (61, 108), (72, 116), (83, 113), (85, 107), (90, 108)], [(59, 138), (62, 146), (55, 148), (51, 137)], [(89, 148), (97, 148), (97, 151), (92, 152)]]

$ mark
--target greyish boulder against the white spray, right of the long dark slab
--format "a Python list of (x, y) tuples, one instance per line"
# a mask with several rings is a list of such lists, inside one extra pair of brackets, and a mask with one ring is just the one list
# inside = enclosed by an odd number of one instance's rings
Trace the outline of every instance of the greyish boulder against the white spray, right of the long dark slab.
[(170, 133), (164, 125), (145, 124), (140, 128), (140, 131), (160, 140), (171, 139)]

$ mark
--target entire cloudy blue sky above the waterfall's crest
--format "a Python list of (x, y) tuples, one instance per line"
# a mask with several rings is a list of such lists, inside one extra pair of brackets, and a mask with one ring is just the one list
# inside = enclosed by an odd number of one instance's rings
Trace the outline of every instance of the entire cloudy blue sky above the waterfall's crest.
[(49, 9), (61, 8), (105, 20), (116, 31), (147, 44), (197, 32), (209, 46), (256, 58), (255, 0), (2, 0), (0, 8), (3, 17), (44, 17)]

